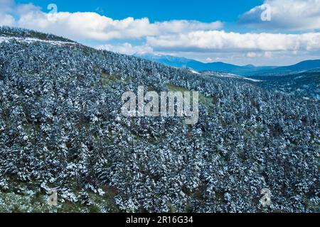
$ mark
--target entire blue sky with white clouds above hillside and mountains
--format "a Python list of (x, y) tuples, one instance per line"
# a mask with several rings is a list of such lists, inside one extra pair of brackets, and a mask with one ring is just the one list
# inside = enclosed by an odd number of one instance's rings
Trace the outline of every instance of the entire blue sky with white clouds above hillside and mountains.
[(238, 65), (320, 58), (320, 0), (0, 0), (1, 25), (128, 55)]

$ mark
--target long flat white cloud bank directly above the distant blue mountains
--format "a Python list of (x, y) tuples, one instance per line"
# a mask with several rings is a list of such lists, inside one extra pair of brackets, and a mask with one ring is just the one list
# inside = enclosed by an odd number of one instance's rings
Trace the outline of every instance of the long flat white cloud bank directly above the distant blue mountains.
[(179, 35), (159, 35), (147, 38), (154, 48), (168, 50), (319, 50), (320, 33), (227, 33), (225, 31), (195, 31)]

